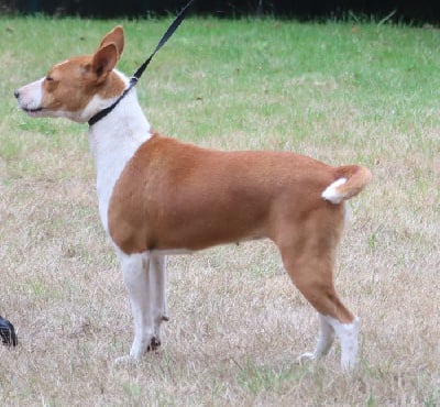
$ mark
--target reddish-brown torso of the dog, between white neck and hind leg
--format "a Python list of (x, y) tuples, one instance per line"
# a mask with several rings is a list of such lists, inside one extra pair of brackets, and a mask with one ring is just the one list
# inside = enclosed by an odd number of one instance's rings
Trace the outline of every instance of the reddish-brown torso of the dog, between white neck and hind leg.
[(125, 253), (274, 238), (278, 213), (299, 221), (329, 207), (329, 168), (294, 153), (220, 152), (154, 134), (114, 185), (109, 232)]

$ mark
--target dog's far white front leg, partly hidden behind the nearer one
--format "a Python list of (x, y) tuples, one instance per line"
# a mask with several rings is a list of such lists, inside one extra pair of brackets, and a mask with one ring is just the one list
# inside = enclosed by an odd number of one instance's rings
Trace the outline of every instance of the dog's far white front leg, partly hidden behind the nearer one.
[(166, 257), (152, 254), (150, 258), (150, 296), (153, 302), (154, 337), (151, 348), (161, 345), (161, 324), (168, 320), (166, 306)]

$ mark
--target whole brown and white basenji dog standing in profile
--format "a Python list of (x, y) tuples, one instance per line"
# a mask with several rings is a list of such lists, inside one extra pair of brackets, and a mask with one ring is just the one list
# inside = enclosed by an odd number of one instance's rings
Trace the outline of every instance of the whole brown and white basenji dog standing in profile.
[[(54, 65), (15, 91), (31, 117), (79, 123), (119, 100), (129, 79), (116, 69), (124, 32), (114, 28), (97, 51)], [(130, 358), (161, 344), (168, 319), (165, 256), (267, 238), (284, 267), (318, 311), (318, 360), (337, 336), (341, 365), (354, 366), (359, 318), (333, 286), (336, 249), (344, 201), (371, 173), (363, 166), (329, 166), (290, 152), (200, 148), (153, 132), (135, 89), (89, 128), (97, 172), (99, 215), (119, 257), (134, 319)]]

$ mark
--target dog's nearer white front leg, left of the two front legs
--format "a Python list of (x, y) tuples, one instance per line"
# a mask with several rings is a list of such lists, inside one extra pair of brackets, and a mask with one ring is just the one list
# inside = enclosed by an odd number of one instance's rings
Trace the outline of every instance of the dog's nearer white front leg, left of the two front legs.
[(119, 257), (134, 319), (134, 340), (130, 356), (140, 359), (150, 349), (154, 338), (154, 316), (150, 296), (151, 256), (148, 253), (120, 253)]

